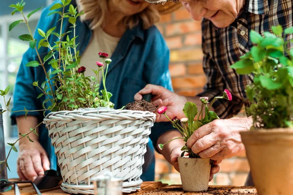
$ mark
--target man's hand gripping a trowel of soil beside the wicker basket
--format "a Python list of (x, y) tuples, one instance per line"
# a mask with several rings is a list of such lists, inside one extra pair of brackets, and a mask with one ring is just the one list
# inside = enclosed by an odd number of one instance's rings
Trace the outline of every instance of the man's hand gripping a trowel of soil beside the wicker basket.
[[(166, 115), (169, 118), (177, 116), (178, 118), (185, 117), (182, 112), (184, 104), (187, 102), (187, 99), (184, 96), (178, 96), (177, 94), (167, 90), (166, 88), (158, 85), (147, 84), (146, 87), (140, 90), (134, 96), (134, 100), (141, 100), (142, 95), (152, 94), (152, 104), (160, 108), (161, 106), (167, 106)], [(156, 117), (157, 122), (168, 121), (164, 115), (158, 115)]]

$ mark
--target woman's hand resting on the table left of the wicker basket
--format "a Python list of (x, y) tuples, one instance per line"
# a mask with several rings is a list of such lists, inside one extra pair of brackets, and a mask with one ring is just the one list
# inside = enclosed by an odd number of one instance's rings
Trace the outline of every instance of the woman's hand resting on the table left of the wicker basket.
[(17, 159), (17, 173), (21, 180), (35, 180), (50, 169), (50, 161), (40, 142), (25, 140), (20, 142)]

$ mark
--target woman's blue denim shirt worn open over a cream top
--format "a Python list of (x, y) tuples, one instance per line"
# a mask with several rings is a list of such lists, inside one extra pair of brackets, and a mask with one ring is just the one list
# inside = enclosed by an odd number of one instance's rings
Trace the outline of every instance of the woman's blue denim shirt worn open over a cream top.
[[(72, 4), (76, 6), (74, 1), (72, 1)], [(49, 11), (50, 7), (43, 10), (37, 29), (40, 28), (44, 32), (47, 32), (50, 28), (56, 26), (55, 32), (59, 33), (61, 22), (58, 20), (60, 19), (60, 15), (53, 14), (47, 16), (51, 12)], [(76, 42), (80, 43), (77, 49), (80, 51), (81, 56), (91, 40), (92, 32), (88, 22), (81, 22), (78, 19), (76, 24), (76, 35), (78, 36)], [(65, 18), (62, 32), (71, 31), (72, 28), (70, 26), (71, 24)], [(69, 37), (73, 37), (73, 32), (69, 33)], [(34, 38), (38, 41), (42, 39), (37, 30)], [(51, 35), (48, 41), (53, 45), (54, 41), (57, 41), (57, 37)], [(39, 49), (41, 59), (43, 59), (48, 51), (49, 49), (46, 47)], [(103, 51), (97, 51), (97, 61), (99, 60), (98, 52)], [(120, 39), (111, 59), (112, 63), (110, 63), (108, 68), (106, 88), (107, 91), (113, 94), (110, 100), (115, 104), (115, 109), (122, 108), (127, 103), (134, 101), (134, 95), (148, 83), (161, 85), (172, 90), (171, 78), (168, 71), (169, 50), (165, 40), (155, 26), (144, 30), (140, 22), (134, 28), (127, 29)], [(45, 80), (45, 75), (41, 66), (25, 67), (25, 64), (32, 60), (39, 61), (36, 51), (29, 48), (23, 55), (17, 74), (13, 111), (23, 110), (24, 107), (27, 110), (42, 109), (42, 101), (44, 101), (45, 96), (37, 99), (41, 91), (33, 86), (32, 83), (39, 81), (41, 85)], [(45, 63), (45, 68), (48, 71), (51, 66)], [(101, 89), (103, 89), (103, 86), (101, 86)], [(46, 107), (49, 106), (49, 102), (45, 103), (45, 105)], [(16, 117), (23, 115), (24, 112), (13, 113), (11, 115), (12, 124), (16, 124)], [(42, 122), (44, 118), (43, 112), (29, 112), (27, 115), (38, 117), (39, 122)], [(149, 136), (150, 140), (147, 144), (143, 175), (141, 176), (143, 180), (154, 180), (154, 148), (156, 149), (157, 139), (172, 129), (171, 124), (168, 122), (155, 123), (152, 127)], [(39, 127), (39, 136), (39, 141), (48, 154), (50, 168), (56, 170), (57, 157), (54, 154), (54, 148), (48, 137), (48, 130), (43, 124)]]

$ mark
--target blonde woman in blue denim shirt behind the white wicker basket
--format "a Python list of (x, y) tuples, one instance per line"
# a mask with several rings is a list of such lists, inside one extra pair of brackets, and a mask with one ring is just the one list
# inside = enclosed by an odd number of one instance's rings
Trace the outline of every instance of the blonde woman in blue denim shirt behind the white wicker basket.
[[(57, 1), (58, 2), (58, 1)], [(160, 85), (172, 90), (168, 71), (169, 50), (158, 29), (153, 25), (159, 21), (159, 11), (154, 5), (144, 0), (73, 0), (78, 10), (84, 11), (81, 20), (77, 20), (76, 42), (81, 55), (80, 65), (86, 67), (85, 75), (91, 76), (92, 69), (97, 69), (98, 53), (109, 54), (112, 63), (109, 65), (106, 88), (113, 94), (111, 101), (115, 108), (121, 108), (133, 101), (135, 93), (147, 83)], [(51, 6), (50, 6), (51, 7)], [(37, 28), (47, 31), (57, 26), (60, 29), (60, 16), (50, 13), (47, 7), (43, 10)], [(163, 8), (164, 10), (164, 8)], [(164, 10), (167, 11), (167, 10)], [(63, 32), (70, 31), (68, 20), (63, 22)], [(72, 37), (72, 33), (70, 34)], [(42, 37), (35, 33), (35, 38)], [(50, 43), (57, 41), (51, 36)], [(52, 45), (52, 44), (51, 44)], [(48, 52), (41, 48), (42, 57)], [(28, 61), (37, 60), (32, 49), (24, 54), (14, 94), (13, 110), (41, 110), (42, 101), (37, 99), (37, 89), (32, 82), (45, 77), (36, 68), (25, 67)], [(24, 134), (42, 121), (42, 112), (13, 113), (13, 122), (17, 123), (19, 132)], [(160, 135), (172, 130), (170, 123), (155, 124), (150, 135), (151, 141), (156, 145)], [(172, 131), (174, 132), (174, 131)], [(34, 180), (43, 175), (45, 170), (57, 169), (57, 157), (48, 131), (44, 125), (38, 129), (39, 137), (30, 135), (34, 143), (28, 139), (20, 140), (20, 153), (17, 160), (17, 172), (21, 179)], [(154, 180), (154, 147), (148, 142), (143, 166), (143, 180)]]

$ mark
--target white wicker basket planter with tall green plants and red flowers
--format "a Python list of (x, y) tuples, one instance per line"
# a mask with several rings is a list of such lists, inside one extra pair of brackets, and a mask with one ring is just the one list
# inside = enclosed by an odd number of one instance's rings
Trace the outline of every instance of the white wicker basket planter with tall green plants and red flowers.
[[(40, 69), (46, 77), (43, 81), (32, 83), (41, 92), (38, 99), (42, 100), (41, 111), (46, 115), (38, 126), (45, 123), (49, 131), (63, 177), (63, 191), (93, 194), (94, 185), (91, 179), (110, 171), (113, 176), (123, 178), (123, 192), (130, 193), (139, 189), (142, 183), (140, 176), (146, 143), (156, 115), (149, 111), (113, 109), (114, 104), (110, 101), (112, 94), (105, 87), (107, 69), (111, 63), (111, 59), (106, 59), (107, 54), (99, 53), (101, 61), (97, 62), (97, 69), (94, 70), (96, 77), (84, 76), (84, 72), (88, 70), (79, 65), (81, 57), (75, 42), (76, 19), (83, 13), (78, 13), (70, 2), (71, 0), (61, 0), (61, 3), (55, 3), (50, 8), (52, 12), (49, 15), (60, 15), (61, 27), (51, 28), (47, 32), (38, 29), (43, 38), (41, 40), (34, 39), (28, 19), (42, 8), (24, 16), (23, 0), (10, 5), (14, 8), (12, 15), (20, 12), (23, 20), (13, 22), (9, 30), (21, 22), (25, 23), (29, 34), (19, 38), (29, 41), (29, 46), (36, 50), (38, 56), (38, 60), (30, 61), (25, 66)], [(69, 21), (72, 32), (62, 32), (63, 20)], [(57, 37), (54, 45), (48, 42), (51, 36)], [(46, 47), (49, 51), (44, 58), (41, 58), (38, 51), (41, 47)], [(100, 71), (103, 76), (103, 90), (99, 86)], [(5, 99), (8, 91), (9, 87), (0, 91), (6, 107), (0, 114), (12, 112), (9, 109), (10, 99)], [(14, 112), (25, 112), (26, 116), (33, 111), (24, 108)], [(27, 137), (32, 141), (29, 134), (37, 134), (37, 127), (27, 134), (20, 134), (21, 138)], [(10, 152), (17, 152), (16, 142), (9, 143), (12, 146)], [(5, 163), (9, 168), (7, 158), (0, 163)]]

